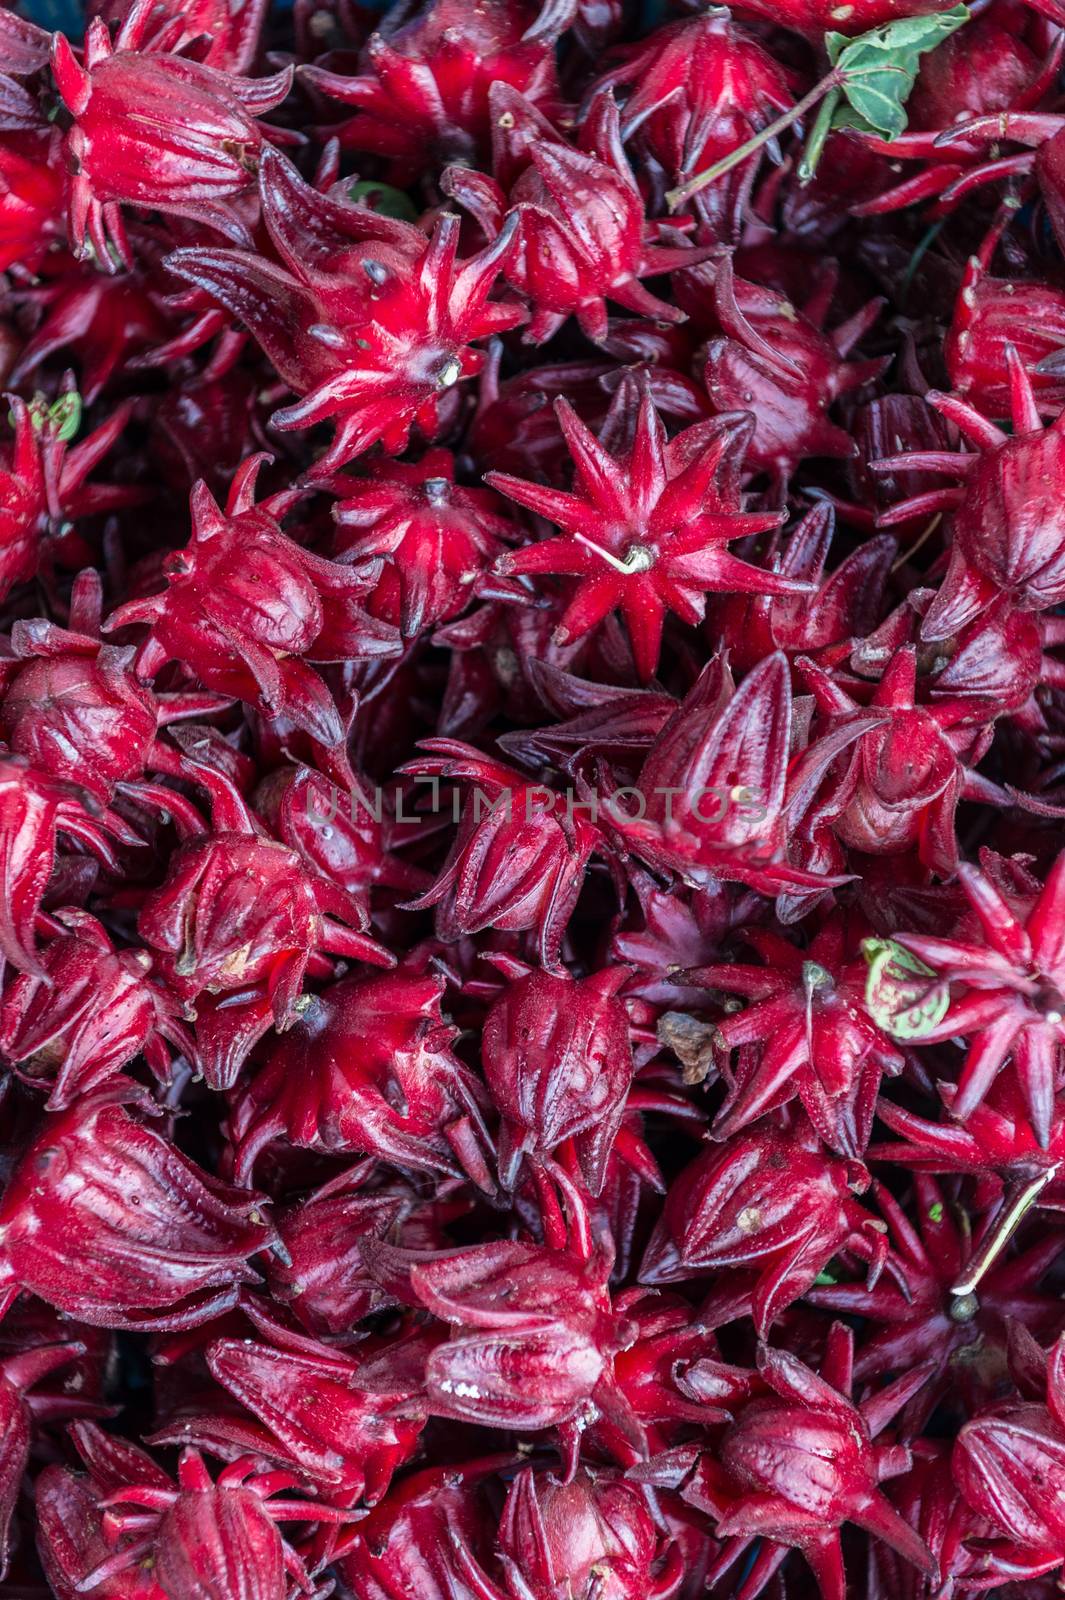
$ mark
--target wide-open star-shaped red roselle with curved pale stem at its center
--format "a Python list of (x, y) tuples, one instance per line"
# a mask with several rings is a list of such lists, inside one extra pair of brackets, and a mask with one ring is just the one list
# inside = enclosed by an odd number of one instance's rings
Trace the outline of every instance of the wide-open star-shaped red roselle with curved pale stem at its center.
[(668, 611), (696, 626), (715, 590), (806, 594), (809, 584), (764, 571), (729, 549), (732, 539), (782, 522), (744, 510), (740, 469), (750, 418), (699, 422), (672, 442), (646, 387), (624, 386), (596, 440), (564, 400), (555, 406), (576, 464), (572, 493), (489, 472), (488, 483), (563, 531), (501, 557), (501, 573), (574, 579), (555, 629), (569, 643), (620, 611), (636, 672), (649, 680)]

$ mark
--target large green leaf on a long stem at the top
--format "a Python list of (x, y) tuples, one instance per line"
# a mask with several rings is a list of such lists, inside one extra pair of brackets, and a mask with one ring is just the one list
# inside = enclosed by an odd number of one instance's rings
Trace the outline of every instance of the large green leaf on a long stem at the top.
[(840, 74), (840, 88), (859, 118), (856, 122), (841, 109), (835, 125), (897, 139), (907, 126), (905, 102), (921, 56), (967, 21), (969, 8), (956, 5), (939, 16), (900, 16), (857, 38), (825, 34), (825, 50)]

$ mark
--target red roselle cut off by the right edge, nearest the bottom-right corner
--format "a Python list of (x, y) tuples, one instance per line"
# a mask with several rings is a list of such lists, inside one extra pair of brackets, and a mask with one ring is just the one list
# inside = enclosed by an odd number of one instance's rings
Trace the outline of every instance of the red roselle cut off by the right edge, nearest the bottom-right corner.
[[(1036, 1352), (1043, 1354), (1038, 1346)], [(1007, 1560), (1011, 1576), (1038, 1578), (1065, 1562), (1062, 1339), (1051, 1349), (1044, 1373), (1046, 1403), (1006, 1402), (972, 1418), (958, 1434), (951, 1458), (967, 1504), (1007, 1541), (1006, 1549), (995, 1544), (993, 1552)]]

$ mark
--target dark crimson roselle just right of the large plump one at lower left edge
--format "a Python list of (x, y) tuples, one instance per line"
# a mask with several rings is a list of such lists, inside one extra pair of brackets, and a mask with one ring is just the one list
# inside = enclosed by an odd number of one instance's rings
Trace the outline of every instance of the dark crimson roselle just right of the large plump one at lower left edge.
[(363, 1238), (441, 1250), (443, 1221), (465, 1210), (419, 1197), (398, 1174), (374, 1182), (374, 1171), (376, 1162), (360, 1162), (275, 1213), (285, 1256), (267, 1266), (270, 1294), (321, 1339), (352, 1336), (363, 1317), (395, 1304), (363, 1261)]

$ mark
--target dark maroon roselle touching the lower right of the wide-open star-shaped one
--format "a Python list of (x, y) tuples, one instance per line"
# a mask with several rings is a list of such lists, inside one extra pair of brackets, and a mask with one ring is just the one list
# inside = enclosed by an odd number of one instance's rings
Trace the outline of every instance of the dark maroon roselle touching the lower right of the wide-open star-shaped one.
[(835, 538), (830, 504), (814, 506), (785, 533), (774, 528), (764, 541), (764, 565), (801, 584), (804, 594), (731, 594), (710, 602), (710, 626), (729, 650), (734, 670), (750, 670), (774, 650), (817, 654), (844, 638), (865, 637), (883, 614), (895, 542), (873, 534), (827, 573)]

